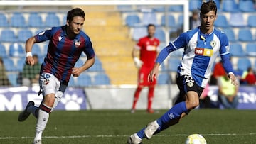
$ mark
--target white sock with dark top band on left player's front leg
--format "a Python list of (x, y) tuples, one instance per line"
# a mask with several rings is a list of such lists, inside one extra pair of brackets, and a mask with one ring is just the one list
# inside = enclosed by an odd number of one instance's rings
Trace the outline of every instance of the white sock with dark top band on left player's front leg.
[(34, 140), (41, 140), (43, 130), (46, 128), (51, 108), (45, 104), (39, 106), (38, 121), (36, 123), (36, 136)]

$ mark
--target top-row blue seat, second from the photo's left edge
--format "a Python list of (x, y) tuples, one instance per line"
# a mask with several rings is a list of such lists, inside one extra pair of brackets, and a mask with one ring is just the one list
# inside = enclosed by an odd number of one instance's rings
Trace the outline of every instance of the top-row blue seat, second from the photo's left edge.
[(22, 13), (13, 13), (11, 16), (11, 26), (24, 28), (27, 26), (26, 20)]

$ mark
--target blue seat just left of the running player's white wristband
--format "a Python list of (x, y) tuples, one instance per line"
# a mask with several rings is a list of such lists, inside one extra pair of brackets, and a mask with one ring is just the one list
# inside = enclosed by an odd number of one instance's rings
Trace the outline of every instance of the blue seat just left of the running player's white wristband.
[(25, 49), (21, 44), (14, 43), (9, 47), (9, 56), (10, 57), (23, 57), (25, 56)]

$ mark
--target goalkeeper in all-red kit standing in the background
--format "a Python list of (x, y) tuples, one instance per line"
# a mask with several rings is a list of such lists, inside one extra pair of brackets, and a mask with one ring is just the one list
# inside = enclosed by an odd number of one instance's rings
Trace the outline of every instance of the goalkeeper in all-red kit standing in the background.
[[(139, 77), (138, 87), (134, 93), (134, 101), (132, 104), (131, 113), (135, 112), (136, 104), (139, 99), (139, 93), (144, 87), (149, 87), (147, 112), (154, 113), (153, 109), (151, 109), (151, 105), (154, 98), (154, 87), (156, 85), (156, 81), (149, 82), (147, 80), (147, 76), (154, 67), (156, 56), (159, 53), (160, 41), (154, 37), (154, 33), (156, 32), (156, 26), (154, 26), (153, 24), (149, 24), (147, 26), (147, 32), (148, 35), (140, 38), (139, 42), (137, 43), (137, 45), (134, 46), (132, 50), (132, 57), (134, 59), (135, 66), (139, 69)], [(137, 57), (138, 52), (139, 58)]]

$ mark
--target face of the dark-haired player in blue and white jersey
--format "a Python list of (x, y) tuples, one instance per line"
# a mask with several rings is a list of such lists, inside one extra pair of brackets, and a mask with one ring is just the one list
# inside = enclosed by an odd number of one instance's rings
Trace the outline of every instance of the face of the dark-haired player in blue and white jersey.
[(209, 11), (208, 13), (201, 13), (201, 28), (206, 33), (213, 31), (213, 25), (217, 16), (215, 11)]

